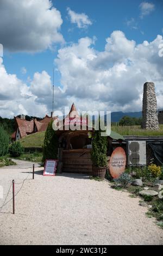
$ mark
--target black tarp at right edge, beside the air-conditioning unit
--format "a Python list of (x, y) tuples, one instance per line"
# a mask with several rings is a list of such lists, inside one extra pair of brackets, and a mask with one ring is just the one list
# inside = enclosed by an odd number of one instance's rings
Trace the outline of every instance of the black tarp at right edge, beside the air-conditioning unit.
[(147, 143), (153, 150), (154, 156), (159, 165), (163, 164), (163, 142), (149, 142)]

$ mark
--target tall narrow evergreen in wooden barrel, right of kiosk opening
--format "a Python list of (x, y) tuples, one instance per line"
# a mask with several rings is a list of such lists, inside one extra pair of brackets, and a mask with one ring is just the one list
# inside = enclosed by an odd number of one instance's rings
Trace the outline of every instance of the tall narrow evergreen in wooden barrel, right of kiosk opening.
[(107, 137), (101, 136), (101, 129), (95, 131), (92, 139), (92, 175), (100, 179), (105, 178), (107, 166)]

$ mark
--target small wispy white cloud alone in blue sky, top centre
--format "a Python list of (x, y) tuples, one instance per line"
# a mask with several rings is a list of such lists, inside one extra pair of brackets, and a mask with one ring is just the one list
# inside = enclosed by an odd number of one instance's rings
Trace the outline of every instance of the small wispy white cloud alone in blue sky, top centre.
[(92, 25), (89, 17), (82, 13), (75, 13), (70, 8), (67, 8), (68, 15), (70, 16), (71, 23), (77, 24), (78, 28), (87, 28), (89, 25)]

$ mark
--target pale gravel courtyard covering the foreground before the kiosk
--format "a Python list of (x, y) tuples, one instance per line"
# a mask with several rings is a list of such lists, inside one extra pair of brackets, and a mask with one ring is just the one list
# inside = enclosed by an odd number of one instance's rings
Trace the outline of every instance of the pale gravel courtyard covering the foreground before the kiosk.
[[(107, 181), (80, 174), (43, 176), (42, 168), (18, 166), (0, 169), (0, 185), (7, 196), (15, 179), (15, 215), (12, 191), (0, 213), (1, 245), (162, 245), (163, 230), (139, 198), (110, 188)], [(27, 179), (23, 182), (24, 179)], [(23, 183), (22, 183), (23, 182)]]

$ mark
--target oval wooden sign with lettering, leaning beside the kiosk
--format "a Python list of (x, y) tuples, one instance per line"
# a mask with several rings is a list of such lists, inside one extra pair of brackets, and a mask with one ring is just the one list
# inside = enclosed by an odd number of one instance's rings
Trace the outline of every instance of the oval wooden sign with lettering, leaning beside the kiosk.
[(111, 157), (109, 163), (109, 170), (112, 178), (118, 178), (125, 170), (126, 167), (126, 153), (123, 148), (116, 148)]

